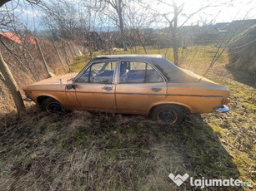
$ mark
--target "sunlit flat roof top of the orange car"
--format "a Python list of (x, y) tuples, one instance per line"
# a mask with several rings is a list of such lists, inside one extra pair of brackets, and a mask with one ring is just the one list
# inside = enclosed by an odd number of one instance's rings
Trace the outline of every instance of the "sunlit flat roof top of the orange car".
[(101, 59), (117, 59), (117, 60), (152, 60), (153, 58), (163, 58), (163, 55), (155, 54), (155, 55), (103, 55), (94, 57), (93, 60), (101, 60)]

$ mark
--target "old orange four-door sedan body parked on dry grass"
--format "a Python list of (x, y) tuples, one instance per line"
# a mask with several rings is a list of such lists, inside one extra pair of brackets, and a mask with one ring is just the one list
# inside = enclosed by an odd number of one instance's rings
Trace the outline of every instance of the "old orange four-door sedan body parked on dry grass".
[[(187, 113), (226, 112), (229, 102), (227, 87), (174, 66), (161, 55), (98, 56), (78, 74), (38, 81), (23, 91), (26, 100), (38, 105), (53, 98), (68, 110), (138, 115), (149, 115), (159, 105), (178, 106)], [(167, 110), (163, 107), (162, 115), (169, 116)]]

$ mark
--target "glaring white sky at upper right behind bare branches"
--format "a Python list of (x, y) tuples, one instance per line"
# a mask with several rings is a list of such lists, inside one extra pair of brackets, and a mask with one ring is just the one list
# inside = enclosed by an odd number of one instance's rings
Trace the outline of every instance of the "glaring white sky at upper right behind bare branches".
[[(151, 1), (153, 7), (156, 6), (155, 0)], [(171, 0), (163, 2), (172, 2)], [(201, 7), (211, 5), (212, 7), (204, 8), (191, 17), (186, 25), (194, 25), (199, 21), (205, 22), (232, 22), (233, 20), (256, 19), (256, 0), (177, 0), (177, 4), (184, 3), (183, 12), (186, 16), (198, 11)], [(156, 7), (158, 12), (168, 12), (169, 6), (162, 3)], [(180, 23), (183, 23), (185, 16), (182, 16)]]

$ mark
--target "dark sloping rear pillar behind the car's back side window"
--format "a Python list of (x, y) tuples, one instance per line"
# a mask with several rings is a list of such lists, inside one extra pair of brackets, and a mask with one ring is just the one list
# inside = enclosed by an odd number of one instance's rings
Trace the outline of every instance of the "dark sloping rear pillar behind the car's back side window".
[(166, 58), (160, 58), (154, 63), (158, 67), (158, 70), (170, 82), (183, 82), (183, 81), (199, 81), (200, 77), (194, 74), (192, 71), (187, 71), (175, 66)]

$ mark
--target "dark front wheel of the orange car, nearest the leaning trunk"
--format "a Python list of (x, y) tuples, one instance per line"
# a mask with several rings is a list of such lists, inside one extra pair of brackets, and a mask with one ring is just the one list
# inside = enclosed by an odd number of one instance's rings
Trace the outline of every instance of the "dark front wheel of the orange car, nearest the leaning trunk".
[(48, 113), (63, 113), (67, 110), (58, 100), (48, 97), (43, 100), (41, 104), (42, 111), (47, 111)]

